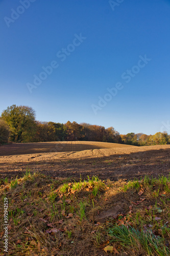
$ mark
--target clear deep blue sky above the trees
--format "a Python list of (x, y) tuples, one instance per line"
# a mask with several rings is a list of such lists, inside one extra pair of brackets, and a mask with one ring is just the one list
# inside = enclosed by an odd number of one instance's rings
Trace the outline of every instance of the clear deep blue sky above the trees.
[[(28, 105), (39, 121), (161, 131), (170, 120), (170, 1), (113, 2), (0, 0), (0, 112)], [(118, 82), (122, 90), (101, 107)]]

